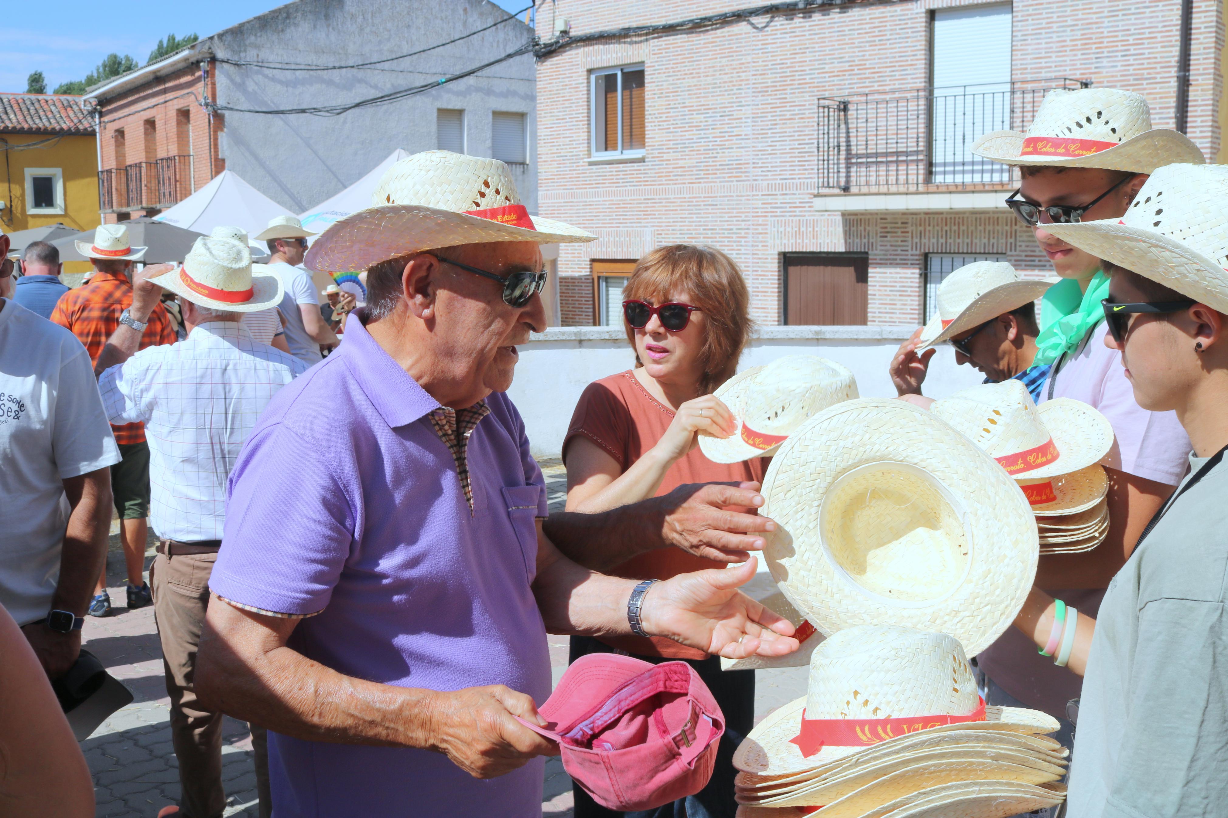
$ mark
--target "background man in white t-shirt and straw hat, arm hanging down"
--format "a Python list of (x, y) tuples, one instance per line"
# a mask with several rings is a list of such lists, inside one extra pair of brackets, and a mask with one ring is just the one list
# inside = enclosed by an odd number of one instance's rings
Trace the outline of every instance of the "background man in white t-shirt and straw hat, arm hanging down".
[(293, 216), (278, 216), (269, 227), (255, 235), (266, 242), (271, 267), (285, 286), (285, 294), (278, 307), (286, 319), (286, 343), (290, 353), (308, 367), (323, 361), (321, 347), (335, 347), (340, 341), (319, 313), (319, 297), (311, 273), (300, 265), (307, 255), (307, 237), (314, 235)]

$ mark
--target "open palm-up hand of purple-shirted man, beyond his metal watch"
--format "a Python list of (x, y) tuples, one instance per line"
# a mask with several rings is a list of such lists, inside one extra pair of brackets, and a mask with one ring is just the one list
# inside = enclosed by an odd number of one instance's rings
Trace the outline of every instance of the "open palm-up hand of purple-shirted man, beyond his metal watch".
[(657, 583), (643, 597), (643, 629), (726, 659), (792, 654), (799, 643), (788, 619), (738, 590), (755, 575), (755, 563)]

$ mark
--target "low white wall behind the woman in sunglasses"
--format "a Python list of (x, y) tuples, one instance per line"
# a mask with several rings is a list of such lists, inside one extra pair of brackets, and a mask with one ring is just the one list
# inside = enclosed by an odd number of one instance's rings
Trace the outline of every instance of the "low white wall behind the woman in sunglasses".
[[(739, 369), (781, 356), (817, 354), (852, 370), (862, 397), (895, 397), (887, 367), (912, 326), (766, 326), (755, 334)], [(621, 327), (560, 326), (534, 334), (519, 347), (516, 380), (508, 396), (528, 428), (535, 457), (558, 457), (571, 413), (585, 386), (635, 365)], [(943, 397), (979, 384), (971, 367), (957, 367), (954, 351), (942, 347), (930, 364), (922, 391)]]

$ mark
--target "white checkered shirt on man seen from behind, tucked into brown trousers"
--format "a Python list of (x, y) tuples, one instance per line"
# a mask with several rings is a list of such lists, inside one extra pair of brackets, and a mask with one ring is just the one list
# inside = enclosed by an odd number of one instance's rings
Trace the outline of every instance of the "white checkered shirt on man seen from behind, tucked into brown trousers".
[(114, 422), (141, 421), (150, 444), (150, 518), (166, 540), (221, 540), (226, 481), (273, 396), (307, 365), (236, 321), (208, 321), (102, 373)]

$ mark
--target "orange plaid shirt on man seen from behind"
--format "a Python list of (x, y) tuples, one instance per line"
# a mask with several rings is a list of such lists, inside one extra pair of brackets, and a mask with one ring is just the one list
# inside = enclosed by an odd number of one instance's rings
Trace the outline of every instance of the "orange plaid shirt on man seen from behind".
[[(115, 272), (96, 272), (88, 283), (70, 289), (60, 297), (52, 312), (52, 320), (68, 329), (85, 345), (90, 361), (98, 363), (107, 338), (119, 326), (119, 315), (133, 305), (133, 286), (128, 276)], [(150, 315), (149, 326), (141, 335), (141, 350), (163, 343), (174, 343), (177, 336), (171, 319), (158, 304)], [(111, 426), (115, 443), (145, 441), (144, 423)]]

